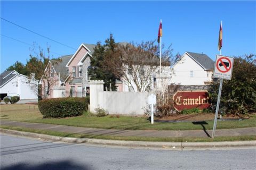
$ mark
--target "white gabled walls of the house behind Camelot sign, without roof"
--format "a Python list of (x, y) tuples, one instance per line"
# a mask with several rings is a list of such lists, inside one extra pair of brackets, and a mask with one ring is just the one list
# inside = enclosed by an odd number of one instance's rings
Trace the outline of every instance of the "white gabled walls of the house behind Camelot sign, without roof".
[[(190, 76), (193, 71), (193, 77)], [(208, 76), (207, 76), (208, 73)], [(204, 85), (204, 82), (211, 81), (212, 72), (205, 71), (202, 66), (196, 63), (187, 54), (173, 66), (171, 83), (181, 85)]]

